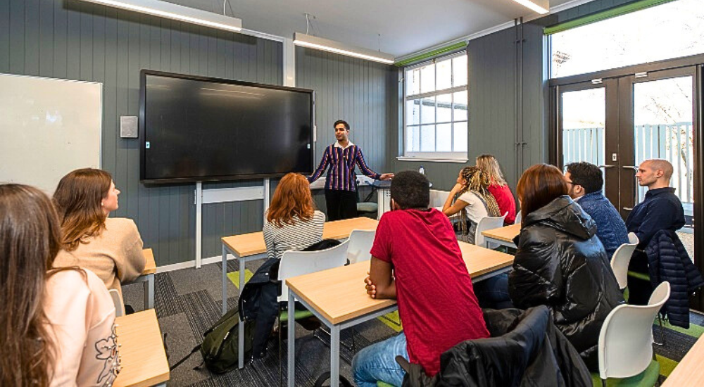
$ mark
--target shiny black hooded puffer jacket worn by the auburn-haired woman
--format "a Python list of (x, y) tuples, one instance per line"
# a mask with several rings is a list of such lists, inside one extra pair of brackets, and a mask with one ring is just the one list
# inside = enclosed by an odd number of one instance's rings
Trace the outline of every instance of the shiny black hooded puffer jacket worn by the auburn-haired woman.
[(623, 303), (596, 223), (569, 196), (524, 218), (508, 290), (516, 307), (548, 305), (555, 326), (598, 369), (601, 325)]

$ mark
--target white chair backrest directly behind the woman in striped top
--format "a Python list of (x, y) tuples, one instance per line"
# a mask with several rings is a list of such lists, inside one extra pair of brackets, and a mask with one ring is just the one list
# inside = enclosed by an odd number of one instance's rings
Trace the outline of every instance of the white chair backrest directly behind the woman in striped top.
[(347, 245), (349, 239), (337, 246), (320, 251), (284, 252), (279, 264), (279, 281), (281, 281), (281, 296), (279, 302), (289, 300), (289, 287), (286, 279), (303, 274), (320, 272), (334, 267), (344, 266), (347, 262)]

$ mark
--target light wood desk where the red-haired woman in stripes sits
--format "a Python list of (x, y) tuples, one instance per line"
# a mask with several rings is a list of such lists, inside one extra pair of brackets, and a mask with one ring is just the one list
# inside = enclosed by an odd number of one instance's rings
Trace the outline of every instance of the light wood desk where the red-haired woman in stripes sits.
[[(378, 220), (355, 217), (334, 222), (325, 222), (322, 239), (345, 239), (352, 230), (377, 229)], [(222, 314), (227, 312), (227, 254), (239, 261), (239, 293), (244, 288), (244, 265), (252, 260), (266, 258), (266, 244), (261, 231), (249, 234), (222, 237)], [(239, 368), (244, 368), (244, 324), (239, 324)]]

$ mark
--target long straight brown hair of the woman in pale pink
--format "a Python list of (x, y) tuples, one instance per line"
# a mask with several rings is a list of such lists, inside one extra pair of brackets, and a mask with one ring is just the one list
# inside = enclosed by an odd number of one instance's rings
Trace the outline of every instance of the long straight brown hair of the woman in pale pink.
[[(48, 386), (56, 348), (42, 300), (61, 250), (54, 206), (39, 189), (0, 185), (0, 386)], [(65, 268), (72, 269), (72, 268)]]

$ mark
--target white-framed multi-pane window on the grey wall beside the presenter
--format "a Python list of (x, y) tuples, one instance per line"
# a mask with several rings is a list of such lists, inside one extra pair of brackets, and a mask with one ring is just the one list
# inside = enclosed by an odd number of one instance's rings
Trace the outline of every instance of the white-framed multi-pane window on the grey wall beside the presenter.
[(467, 53), (405, 70), (404, 152), (415, 158), (467, 158)]

